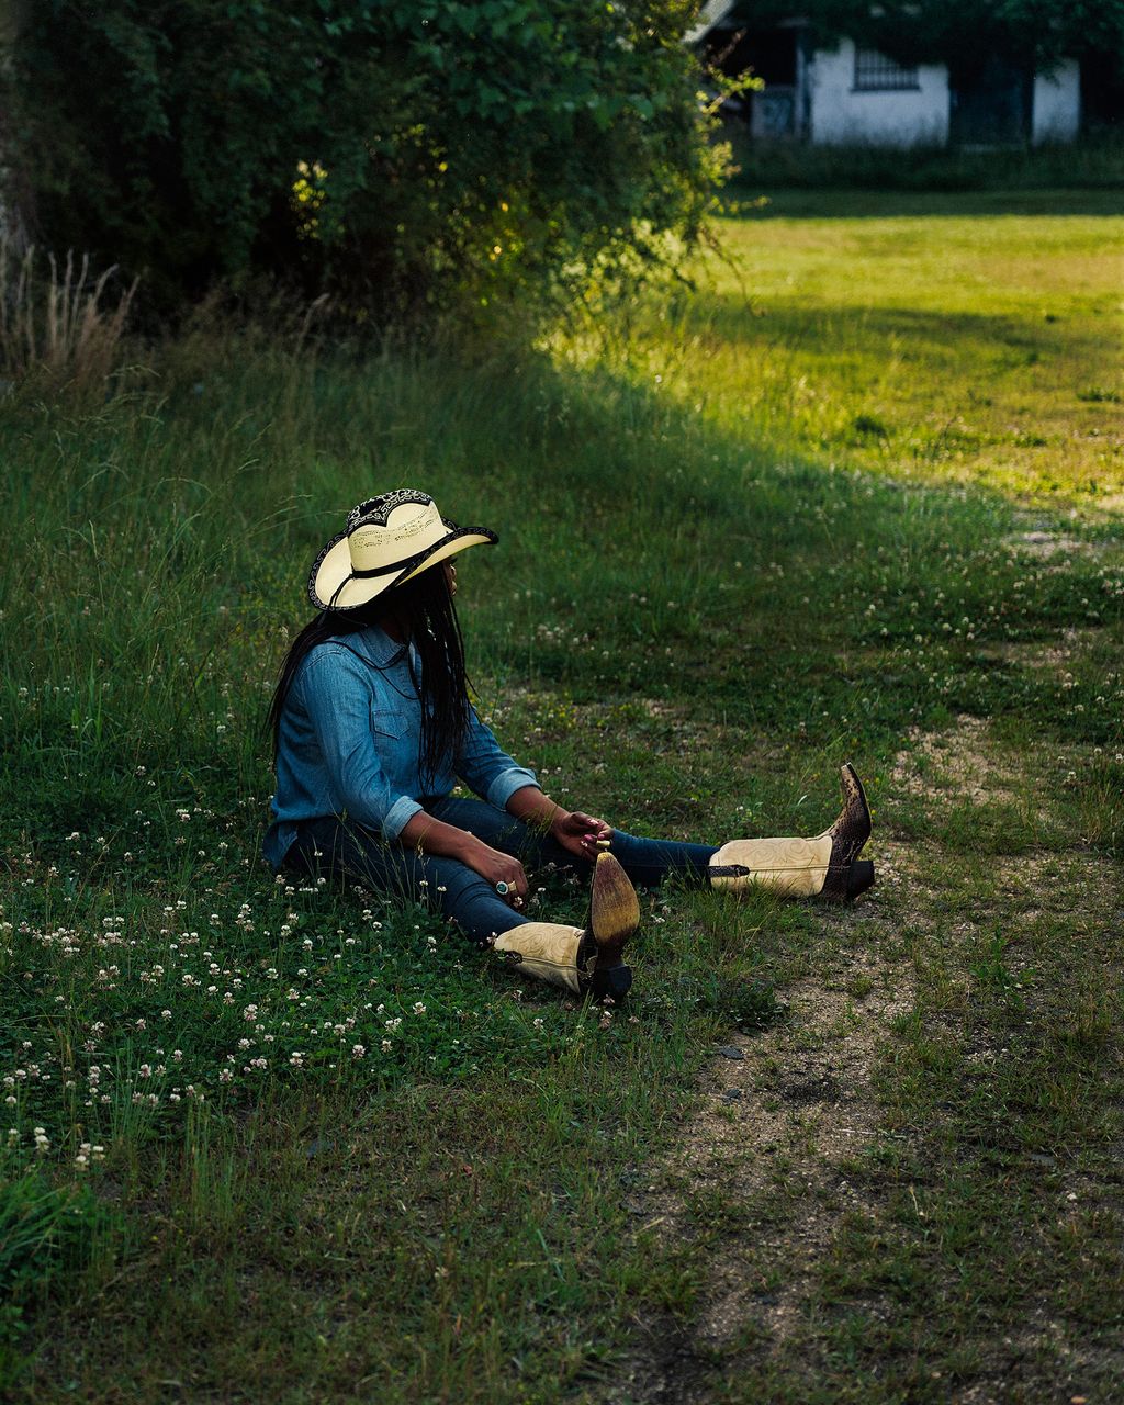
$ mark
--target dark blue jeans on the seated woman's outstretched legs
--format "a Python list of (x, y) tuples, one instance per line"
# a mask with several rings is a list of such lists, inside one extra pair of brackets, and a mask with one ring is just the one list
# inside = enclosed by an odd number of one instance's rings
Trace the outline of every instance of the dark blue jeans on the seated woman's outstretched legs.
[[(582, 877), (593, 871), (590, 863), (575, 858), (548, 835), (485, 801), (445, 797), (426, 801), (426, 811), (434, 819), (466, 829), (489, 847), (511, 854), (528, 867), (556, 864)], [(717, 850), (711, 844), (636, 839), (614, 829), (611, 853), (634, 884), (656, 888), (669, 874), (705, 882), (707, 865)], [(459, 860), (388, 844), (372, 830), (343, 822), (336, 815), (302, 821), (282, 867), (301, 877), (360, 882), (374, 892), (424, 902), (455, 922), (476, 943), (531, 920), (513, 912), (489, 882)]]

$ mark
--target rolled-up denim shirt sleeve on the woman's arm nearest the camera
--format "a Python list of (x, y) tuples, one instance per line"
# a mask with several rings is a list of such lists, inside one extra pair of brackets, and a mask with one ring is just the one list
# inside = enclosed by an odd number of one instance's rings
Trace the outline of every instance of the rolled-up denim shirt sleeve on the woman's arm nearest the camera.
[[(309, 655), (301, 686), (334, 813), (398, 839), (422, 805), (388, 777), (370, 670), (346, 649), (320, 648)], [(393, 746), (393, 738), (385, 740)]]

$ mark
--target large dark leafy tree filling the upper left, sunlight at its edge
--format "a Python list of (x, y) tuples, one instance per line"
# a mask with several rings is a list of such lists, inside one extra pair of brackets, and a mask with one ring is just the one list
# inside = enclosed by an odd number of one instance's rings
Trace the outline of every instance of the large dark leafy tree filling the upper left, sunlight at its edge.
[(721, 155), (691, 0), (28, 0), (4, 148), (41, 240), (164, 306), (257, 273), (357, 311), (665, 263)]

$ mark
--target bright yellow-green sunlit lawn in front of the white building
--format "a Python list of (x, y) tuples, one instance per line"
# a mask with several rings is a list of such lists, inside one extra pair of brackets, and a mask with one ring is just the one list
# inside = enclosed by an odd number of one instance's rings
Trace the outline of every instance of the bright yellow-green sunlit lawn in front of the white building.
[(1124, 204), (1069, 204), (781, 192), (721, 222), (698, 295), (638, 319), (628, 358), (660, 393), (781, 454), (1114, 500)]

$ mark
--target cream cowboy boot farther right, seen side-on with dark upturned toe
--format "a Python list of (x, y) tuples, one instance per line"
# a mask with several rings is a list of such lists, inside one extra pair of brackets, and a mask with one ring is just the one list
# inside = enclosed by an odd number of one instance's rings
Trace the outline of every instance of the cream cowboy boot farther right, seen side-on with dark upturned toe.
[(874, 882), (874, 864), (858, 854), (870, 839), (870, 806), (863, 783), (847, 762), (839, 773), (843, 809), (813, 839), (735, 839), (711, 858), (712, 888), (743, 891), (759, 884), (788, 898), (857, 898)]

